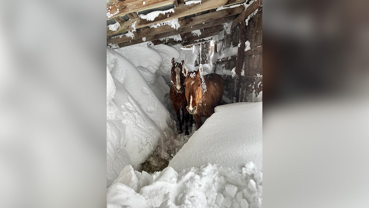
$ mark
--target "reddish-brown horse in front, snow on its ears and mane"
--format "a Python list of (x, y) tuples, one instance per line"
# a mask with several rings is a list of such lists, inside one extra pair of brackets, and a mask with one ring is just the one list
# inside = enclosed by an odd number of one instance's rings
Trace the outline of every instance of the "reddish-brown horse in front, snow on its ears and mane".
[(214, 113), (214, 108), (220, 103), (223, 97), (223, 78), (219, 74), (211, 73), (201, 76), (203, 68), (200, 64), (199, 70), (188, 72), (183, 67), (185, 94), (187, 98), (187, 110), (197, 123), (197, 127), (202, 125), (201, 117), (210, 117)]

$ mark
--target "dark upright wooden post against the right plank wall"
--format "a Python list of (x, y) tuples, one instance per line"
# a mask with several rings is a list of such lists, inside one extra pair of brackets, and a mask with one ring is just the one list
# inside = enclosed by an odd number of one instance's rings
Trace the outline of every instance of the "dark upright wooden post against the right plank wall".
[(244, 65), (244, 54), (245, 54), (245, 41), (246, 41), (246, 26), (245, 21), (241, 21), (241, 25), (239, 26), (239, 40), (241, 44), (238, 47), (237, 51), (237, 60), (236, 60), (236, 75), (234, 77), (234, 85), (233, 85), (233, 98), (232, 103), (239, 102), (239, 89), (241, 88), (241, 71)]

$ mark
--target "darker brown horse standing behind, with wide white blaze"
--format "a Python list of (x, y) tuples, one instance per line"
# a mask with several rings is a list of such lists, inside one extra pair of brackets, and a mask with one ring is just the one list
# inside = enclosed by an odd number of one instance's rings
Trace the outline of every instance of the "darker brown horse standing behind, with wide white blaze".
[[(170, 86), (169, 97), (170, 101), (172, 101), (173, 109), (176, 111), (177, 119), (179, 121), (179, 133), (182, 133), (182, 126), (184, 121), (186, 121), (186, 132), (184, 135), (189, 135), (188, 131), (188, 123), (190, 119), (190, 114), (184, 110), (187, 106), (186, 95), (184, 94), (184, 75), (181, 73), (184, 67), (184, 60), (181, 63), (176, 63), (174, 58), (172, 58), (172, 75), (171, 75), (171, 82), (172, 85)], [(182, 120), (180, 111), (182, 108)]]

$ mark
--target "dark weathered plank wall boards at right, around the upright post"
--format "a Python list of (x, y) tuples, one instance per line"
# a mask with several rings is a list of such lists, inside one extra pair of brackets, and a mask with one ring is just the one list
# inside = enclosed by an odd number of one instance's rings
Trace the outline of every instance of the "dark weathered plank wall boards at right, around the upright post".
[[(262, 11), (249, 20), (246, 26), (246, 40), (250, 41), (251, 48), (262, 46)], [(237, 46), (238, 43), (239, 26), (234, 27), (229, 35), (226, 35), (223, 40), (217, 42), (217, 51), (224, 51), (230, 46)], [(232, 70), (236, 66), (236, 57), (233, 56), (230, 60), (222, 60), (216, 64), (222, 66), (225, 70)], [(246, 55), (243, 70), (244, 76), (241, 77), (239, 101), (262, 101), (262, 50), (258, 50), (258, 53)], [(223, 75), (222, 77), (224, 79), (224, 96), (232, 100), (234, 97), (234, 78), (231, 75)]]

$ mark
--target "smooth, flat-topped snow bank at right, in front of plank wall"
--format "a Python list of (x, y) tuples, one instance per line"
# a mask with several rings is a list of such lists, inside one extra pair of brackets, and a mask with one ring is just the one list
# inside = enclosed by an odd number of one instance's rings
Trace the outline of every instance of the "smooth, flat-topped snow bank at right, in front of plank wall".
[(169, 162), (174, 170), (211, 163), (262, 171), (262, 102), (220, 105)]

